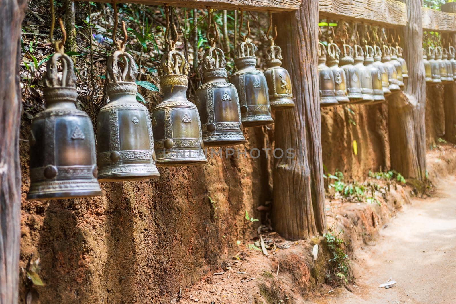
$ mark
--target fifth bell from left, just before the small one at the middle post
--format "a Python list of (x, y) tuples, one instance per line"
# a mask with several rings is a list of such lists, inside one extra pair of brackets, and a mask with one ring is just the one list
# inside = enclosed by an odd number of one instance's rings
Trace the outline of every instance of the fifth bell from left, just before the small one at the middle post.
[(237, 56), (234, 61), (238, 71), (230, 77), (230, 82), (238, 90), (244, 128), (258, 127), (274, 122), (269, 106), (266, 77), (264, 77), (263, 72), (255, 68), (256, 51), (257, 47), (251, 42), (239, 43), (236, 47)]

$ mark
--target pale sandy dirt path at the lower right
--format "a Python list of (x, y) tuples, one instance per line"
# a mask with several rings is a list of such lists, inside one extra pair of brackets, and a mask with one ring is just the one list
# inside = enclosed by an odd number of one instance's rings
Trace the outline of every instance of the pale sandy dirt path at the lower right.
[[(317, 303), (456, 303), (456, 176), (406, 209), (355, 253), (353, 292), (336, 289)], [(394, 288), (378, 288), (389, 278)]]

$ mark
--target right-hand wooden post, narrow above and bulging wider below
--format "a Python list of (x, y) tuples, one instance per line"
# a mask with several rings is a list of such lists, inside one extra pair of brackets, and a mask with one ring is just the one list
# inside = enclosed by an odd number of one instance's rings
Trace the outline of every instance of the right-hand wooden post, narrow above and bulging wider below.
[(425, 70), (421, 52), (421, 0), (407, 0), (409, 22), (404, 28), (404, 59), (409, 80), (404, 93), (389, 103), (391, 167), (407, 178), (424, 180), (426, 172)]

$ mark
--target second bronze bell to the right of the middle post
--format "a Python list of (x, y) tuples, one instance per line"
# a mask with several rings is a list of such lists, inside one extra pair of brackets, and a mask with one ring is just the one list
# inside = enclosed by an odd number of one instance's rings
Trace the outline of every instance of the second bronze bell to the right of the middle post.
[(328, 44), (328, 66), (332, 70), (334, 76), (334, 84), (336, 91), (336, 99), (339, 104), (350, 102), (347, 97), (347, 79), (345, 77), (345, 71), (342, 67), (339, 67), (340, 49), (335, 43)]

